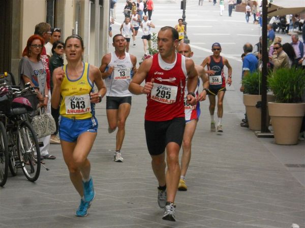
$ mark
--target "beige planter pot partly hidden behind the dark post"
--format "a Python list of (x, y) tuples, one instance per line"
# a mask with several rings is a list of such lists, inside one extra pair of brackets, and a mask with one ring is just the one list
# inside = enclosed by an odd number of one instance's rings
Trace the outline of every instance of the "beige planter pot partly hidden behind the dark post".
[[(254, 131), (261, 130), (261, 108), (257, 108), (256, 104), (262, 100), (261, 95), (243, 94), (243, 104), (246, 106), (246, 112), (248, 117), (249, 129)], [(274, 101), (273, 95), (267, 95), (268, 102)], [(267, 106), (267, 125), (269, 124), (268, 106)]]

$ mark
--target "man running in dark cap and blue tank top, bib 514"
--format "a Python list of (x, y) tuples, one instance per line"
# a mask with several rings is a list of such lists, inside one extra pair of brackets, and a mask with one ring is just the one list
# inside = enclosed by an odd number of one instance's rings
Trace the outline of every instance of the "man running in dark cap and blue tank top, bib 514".
[[(207, 90), (208, 99), (210, 102), (209, 111), (211, 115), (211, 131), (216, 131), (215, 121), (214, 121), (214, 111), (216, 106), (216, 95), (217, 100), (217, 134), (223, 133), (222, 127), (222, 117), (223, 117), (223, 99), (226, 92), (226, 83), (232, 84), (232, 67), (229, 61), (220, 55), (221, 45), (219, 43), (212, 44), (213, 55), (206, 57), (201, 65), (203, 67), (207, 66), (205, 71), (208, 74), (209, 88)], [(224, 66), (228, 68), (228, 79), (226, 81)]]

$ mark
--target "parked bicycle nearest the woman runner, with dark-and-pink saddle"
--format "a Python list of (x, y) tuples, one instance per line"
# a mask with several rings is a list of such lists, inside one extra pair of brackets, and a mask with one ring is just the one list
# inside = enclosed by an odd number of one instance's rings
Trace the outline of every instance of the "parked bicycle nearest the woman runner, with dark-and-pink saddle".
[[(13, 176), (17, 175), (17, 169), (21, 168), (25, 177), (34, 182), (40, 174), (40, 149), (36, 133), (27, 121), (26, 113), (36, 110), (37, 94), (35, 88), (29, 84), (21, 91), (17, 86), (6, 88), (8, 93), (0, 98), (0, 102), (7, 104), (3, 112), (7, 117), (9, 168)], [(32, 100), (32, 103), (25, 97)]]

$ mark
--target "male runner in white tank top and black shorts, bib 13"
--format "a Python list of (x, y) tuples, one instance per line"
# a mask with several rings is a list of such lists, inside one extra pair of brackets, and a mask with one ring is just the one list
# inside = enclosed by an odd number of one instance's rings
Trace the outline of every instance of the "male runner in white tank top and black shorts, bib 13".
[(126, 40), (122, 34), (113, 36), (114, 52), (103, 56), (100, 71), (105, 80), (106, 112), (109, 124), (108, 132), (116, 133), (116, 146), (114, 153), (115, 162), (123, 162), (120, 149), (125, 137), (125, 123), (131, 108), (131, 96), (128, 87), (132, 75), (136, 71), (137, 59), (135, 56), (125, 52)]

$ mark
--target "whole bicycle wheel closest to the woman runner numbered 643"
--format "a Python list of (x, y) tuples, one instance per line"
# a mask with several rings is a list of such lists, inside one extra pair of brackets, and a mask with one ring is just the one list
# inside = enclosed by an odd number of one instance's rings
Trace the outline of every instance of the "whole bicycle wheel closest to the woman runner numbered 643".
[(17, 148), (25, 177), (36, 181), (40, 174), (40, 149), (33, 127), (27, 121), (19, 126)]

